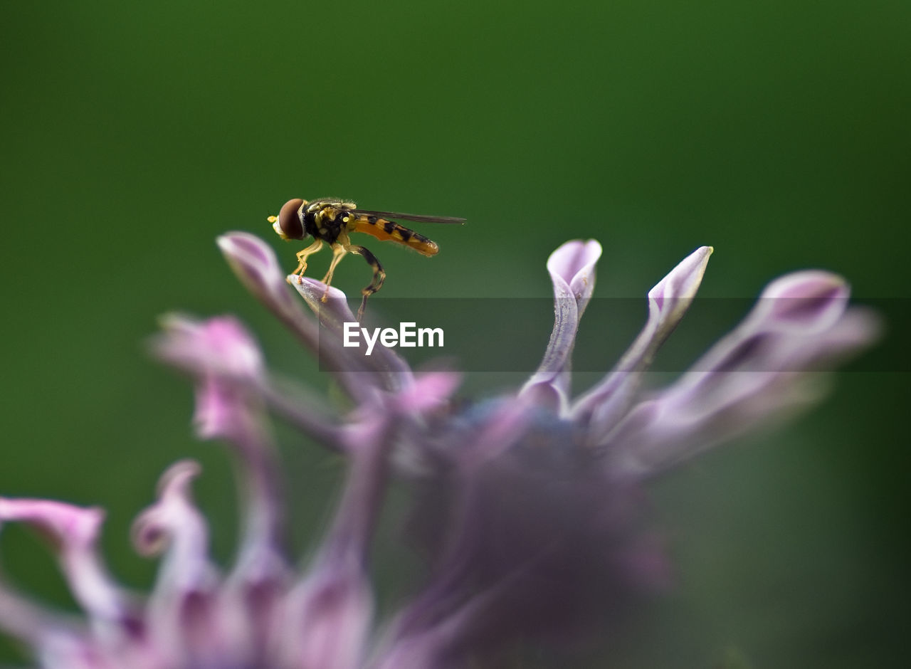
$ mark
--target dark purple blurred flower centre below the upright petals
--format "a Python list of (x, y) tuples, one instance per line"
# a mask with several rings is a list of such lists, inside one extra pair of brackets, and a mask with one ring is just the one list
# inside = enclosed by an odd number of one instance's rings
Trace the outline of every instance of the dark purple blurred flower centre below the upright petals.
[(578, 633), (660, 571), (637, 540), (630, 481), (605, 477), (567, 421), (520, 404), (479, 412), (458, 440), (466, 452), (426, 490), (431, 517), (415, 520), (434, 578), (397, 618), (381, 666), (465, 666), (488, 644)]

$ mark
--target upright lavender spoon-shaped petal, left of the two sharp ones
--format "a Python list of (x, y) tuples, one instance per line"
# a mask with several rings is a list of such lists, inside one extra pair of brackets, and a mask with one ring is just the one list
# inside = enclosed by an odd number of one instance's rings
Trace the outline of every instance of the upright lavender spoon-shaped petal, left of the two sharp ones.
[(600, 256), (598, 242), (576, 240), (566, 242), (548, 258), (554, 286), (554, 328), (537, 372), (520, 394), (561, 414), (567, 407), (570, 356), (579, 321), (595, 289), (595, 264)]

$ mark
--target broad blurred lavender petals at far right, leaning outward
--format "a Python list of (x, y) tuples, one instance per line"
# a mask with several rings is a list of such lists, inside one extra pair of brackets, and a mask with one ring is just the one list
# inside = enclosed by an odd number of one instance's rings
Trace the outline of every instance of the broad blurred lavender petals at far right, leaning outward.
[(831, 367), (870, 345), (875, 316), (845, 311), (834, 274), (794, 273), (771, 284), (751, 314), (675, 384), (599, 436), (614, 467), (637, 476), (755, 427), (769, 427), (819, 400)]

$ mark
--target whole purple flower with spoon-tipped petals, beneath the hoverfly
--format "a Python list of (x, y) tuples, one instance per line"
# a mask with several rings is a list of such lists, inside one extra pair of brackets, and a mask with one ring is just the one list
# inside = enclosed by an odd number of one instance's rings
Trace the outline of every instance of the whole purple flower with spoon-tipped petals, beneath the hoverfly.
[[(537, 372), (513, 395), (466, 406), (451, 400), (454, 372), (415, 374), (383, 346), (369, 356), (343, 346), (343, 324), (355, 318), (340, 291), (295, 277), (287, 283), (303, 302), (293, 299), (264, 242), (231, 233), (219, 244), (251, 293), (332, 370), (353, 408), (340, 413), (273, 376), (230, 316), (166, 318), (154, 350), (193, 378), (199, 436), (223, 441), (238, 463), (236, 558), (227, 570), (211, 561), (191, 461), (165, 472), (158, 501), (134, 525), (138, 551), (162, 556), (143, 598), (105, 570), (101, 510), (0, 499), (0, 522), (25, 522), (51, 540), (85, 612), (48, 611), (0, 582), (0, 628), (42, 667), (446, 668), (484, 664), (517, 640), (606, 634), (630, 602), (668, 579), (642, 519), (643, 483), (816, 401), (816, 370), (876, 333), (871, 314), (848, 308), (841, 278), (789, 274), (691, 371), (646, 392), (644, 373), (701, 283), (711, 255), (701, 247), (650, 290), (648, 320), (613, 371), (572, 399), (570, 358), (601, 247), (568, 242), (548, 260), (555, 324)], [(270, 414), (349, 463), (332, 524), (302, 570), (282, 549)], [(392, 478), (413, 494), (408, 530), (426, 572), (381, 626), (369, 553)]]

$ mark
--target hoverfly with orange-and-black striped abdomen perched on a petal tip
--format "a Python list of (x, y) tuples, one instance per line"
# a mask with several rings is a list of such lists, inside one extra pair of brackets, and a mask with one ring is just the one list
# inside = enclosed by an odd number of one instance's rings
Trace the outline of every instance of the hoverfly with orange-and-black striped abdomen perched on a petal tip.
[[(322, 283), (326, 284), (326, 294), (322, 296), (323, 302), (326, 301), (329, 293), (328, 288), (329, 284), (332, 283), (335, 267), (346, 254), (356, 253), (360, 255), (373, 268), (373, 281), (361, 291), (363, 299), (361, 300), (361, 308), (357, 310), (357, 320), (360, 321), (363, 316), (363, 308), (367, 304), (367, 298), (383, 287), (386, 273), (383, 270), (383, 265), (380, 264), (372, 252), (359, 244), (351, 242), (348, 236), (351, 232), (366, 232), (378, 240), (400, 243), (427, 256), (436, 255), (440, 251), (435, 242), (431, 242), (424, 235), (409, 230), (404, 225), (390, 221), (390, 219), (421, 223), (465, 222), (465, 219), (448, 216), (415, 216), (392, 211), (358, 209), (354, 202), (335, 198), (323, 198), (322, 200), (309, 202), (300, 198), (289, 200), (281, 207), (278, 216), (269, 217), (269, 222), (271, 222), (275, 232), (278, 232), (281, 239), (286, 242), (305, 240), (308, 237), (313, 238), (310, 246), (297, 253), (298, 265), (294, 273), (298, 277), (302, 277), (307, 270), (307, 258), (322, 249), (323, 243), (329, 244), (332, 248), (333, 261), (329, 265), (329, 271), (322, 278)], [(302, 280), (299, 278), (298, 281)]]

